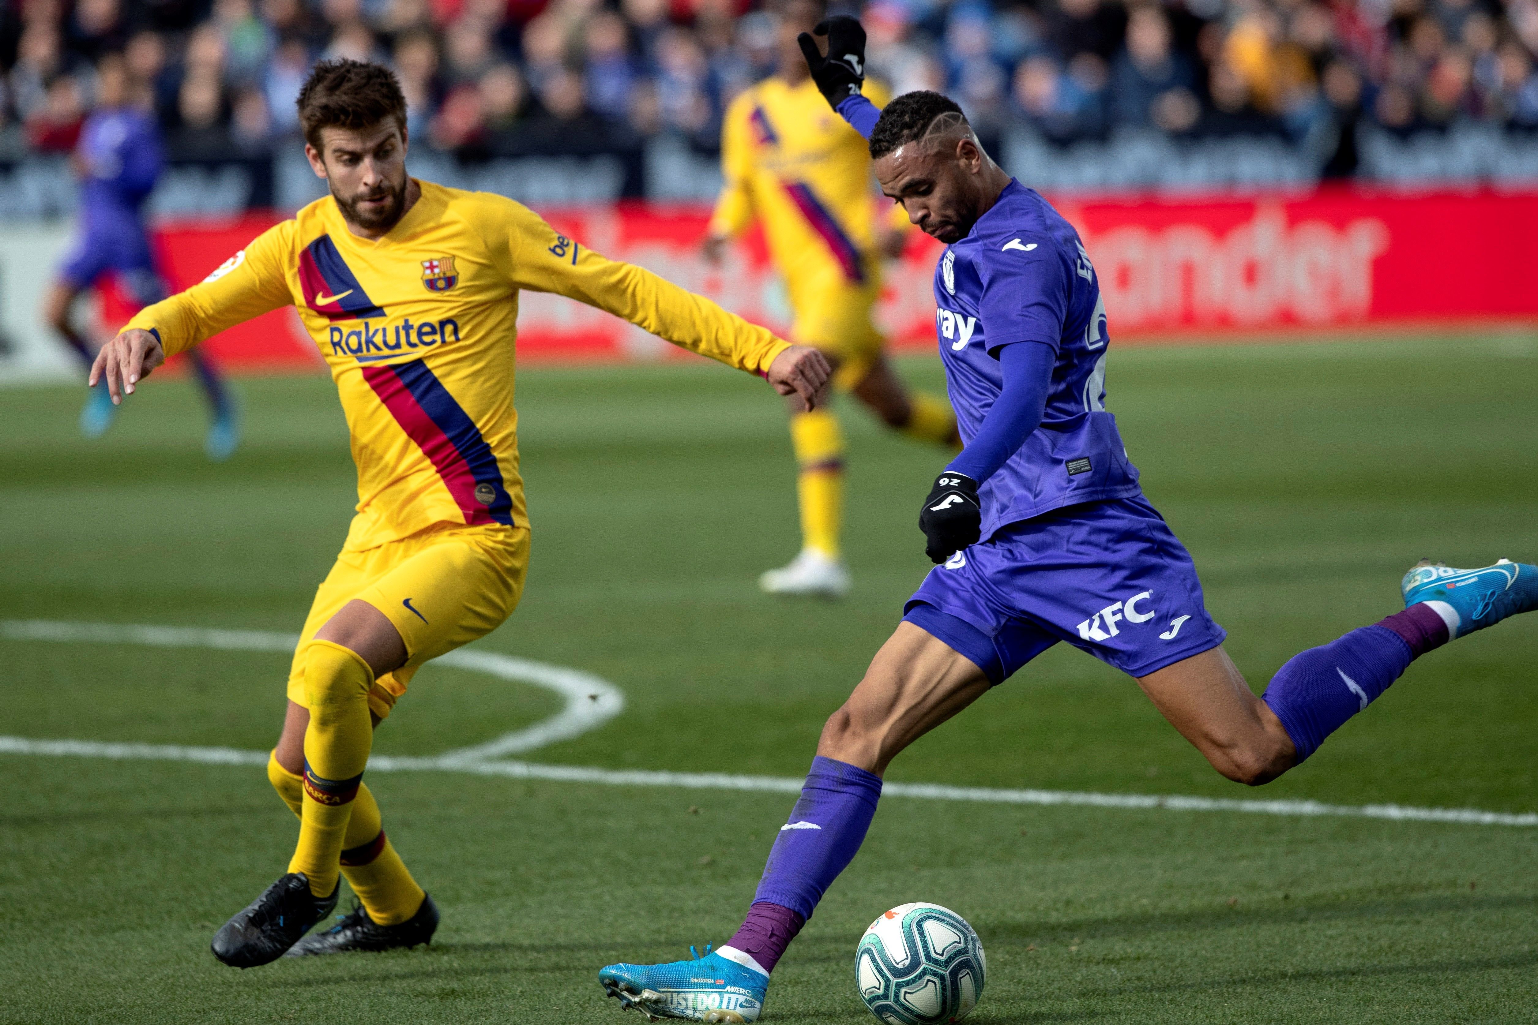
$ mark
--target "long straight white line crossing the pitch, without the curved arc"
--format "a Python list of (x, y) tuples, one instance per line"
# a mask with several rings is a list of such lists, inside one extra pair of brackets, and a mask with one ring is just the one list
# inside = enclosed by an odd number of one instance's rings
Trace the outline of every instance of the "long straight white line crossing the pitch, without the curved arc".
[[(0, 736), (0, 755), (52, 755), (65, 758), (149, 759), (171, 762), (201, 762), (205, 765), (265, 765), (266, 751), (241, 751), (232, 747), (181, 747), (172, 744), (102, 744), (97, 741), (34, 741), (22, 736)], [(551, 782), (583, 782), (609, 787), (678, 787), (683, 790), (757, 790), (767, 793), (800, 793), (801, 779), (791, 776), (734, 776), (727, 773), (669, 773), (644, 768), (589, 768), (584, 765), (540, 765), (535, 762), (489, 762), (463, 758), (400, 758), (375, 755), (369, 771), (451, 771), (506, 779), (541, 779)], [(1230, 798), (1190, 798), (1180, 794), (1087, 793), (1077, 790), (997, 790), (990, 787), (944, 787), (940, 784), (889, 782), (881, 791), (887, 798), (918, 798), (923, 801), (964, 801), (980, 804), (1072, 805), (1090, 808), (1126, 808), (1137, 811), (1246, 811), (1293, 818), (1390, 819), (1395, 822), (1449, 822), (1455, 825), (1535, 827), (1538, 814), (1481, 811), (1478, 808), (1413, 808), (1398, 804), (1324, 804), (1320, 801), (1240, 801)]]

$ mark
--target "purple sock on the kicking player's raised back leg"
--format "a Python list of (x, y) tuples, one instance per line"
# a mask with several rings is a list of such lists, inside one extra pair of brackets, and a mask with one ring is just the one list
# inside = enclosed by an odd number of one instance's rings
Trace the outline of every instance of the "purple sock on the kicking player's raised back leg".
[(1447, 624), (1424, 604), (1410, 605), (1324, 647), (1293, 655), (1261, 696), (1281, 719), (1298, 762), (1378, 699), (1410, 662), (1447, 642)]

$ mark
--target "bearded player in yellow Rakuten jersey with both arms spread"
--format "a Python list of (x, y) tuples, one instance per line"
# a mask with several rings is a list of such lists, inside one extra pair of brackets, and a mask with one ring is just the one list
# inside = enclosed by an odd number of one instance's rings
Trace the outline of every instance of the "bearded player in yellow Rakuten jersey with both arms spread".
[[(268, 778), (300, 818), (288, 873), (214, 936), (248, 968), (285, 953), (414, 947), (438, 913), (363, 785), (372, 728), (423, 662), (495, 629), (523, 592), (529, 522), (512, 406), (518, 290), (558, 292), (815, 401), (831, 373), (709, 300), (558, 235), (497, 195), (406, 175), (406, 101), (383, 66), (317, 65), (298, 97), (331, 195), (198, 286), (146, 307), (97, 357), (112, 401), (168, 355), (295, 306), (331, 369), (358, 466), (357, 516), (294, 653)], [(337, 904), (361, 908), (305, 937)], [(298, 947), (295, 944), (305, 937)], [(292, 951), (291, 951), (292, 948)]]

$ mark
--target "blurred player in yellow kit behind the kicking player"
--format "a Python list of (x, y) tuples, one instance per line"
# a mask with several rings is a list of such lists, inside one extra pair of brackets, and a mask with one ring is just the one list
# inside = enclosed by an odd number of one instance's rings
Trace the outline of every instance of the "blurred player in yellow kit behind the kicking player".
[[(900, 249), (903, 235), (897, 221), (878, 232), (866, 140), (829, 109), (806, 71), (797, 35), (811, 32), (823, 14), (821, 0), (783, 0), (775, 74), (726, 109), (724, 184), (706, 255), (720, 260), (727, 240), (761, 223), (795, 313), (791, 338), (817, 346), (834, 364), (832, 384), (854, 392), (889, 427), (958, 446), (950, 407), (903, 386), (871, 323), (871, 307), (881, 295), (880, 250)], [(864, 94), (877, 106), (887, 100), (871, 81)], [(791, 443), (798, 466), (801, 553), (760, 576), (758, 585), (780, 595), (838, 596), (849, 590), (840, 555), (844, 436), (838, 418), (792, 396)]]

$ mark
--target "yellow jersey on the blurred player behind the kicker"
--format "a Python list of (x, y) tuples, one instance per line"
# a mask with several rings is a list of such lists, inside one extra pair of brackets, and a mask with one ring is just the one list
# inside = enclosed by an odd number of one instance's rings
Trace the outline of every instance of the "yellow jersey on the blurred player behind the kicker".
[[(864, 95), (877, 106), (889, 98), (871, 80)], [(738, 235), (763, 223), (792, 292), (818, 278), (875, 284), (871, 149), (815, 81), (792, 86), (775, 75), (732, 100), (721, 123), (721, 177), (711, 231)]]

